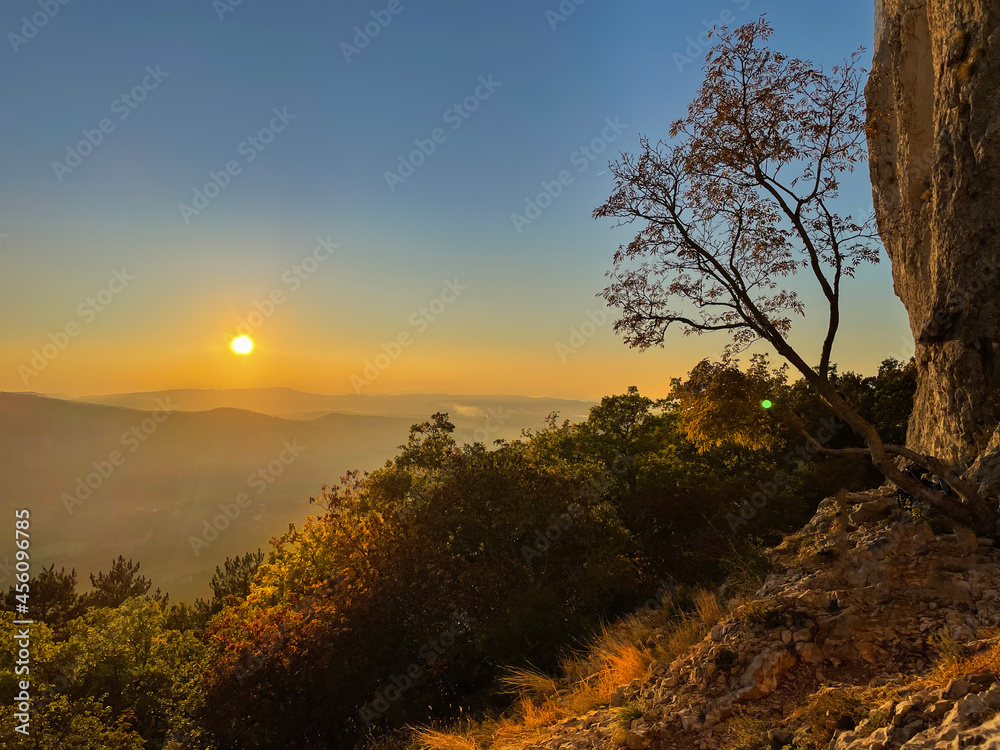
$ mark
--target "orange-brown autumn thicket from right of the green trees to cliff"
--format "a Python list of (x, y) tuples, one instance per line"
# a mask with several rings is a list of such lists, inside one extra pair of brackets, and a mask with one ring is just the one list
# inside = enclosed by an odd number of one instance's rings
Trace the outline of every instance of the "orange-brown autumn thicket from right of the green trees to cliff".
[[(884, 372), (836, 381), (895, 423), (886, 405), (905, 406), (912, 389), (899, 387), (898, 363)], [(734, 547), (867, 486), (861, 457), (803, 460), (806, 441), (773, 419), (716, 439), (712, 415), (748, 394), (821, 408), (758, 360), (748, 372), (695, 368), (667, 399), (630, 388), (583, 422), (552, 415), (492, 450), (458, 445), (443, 414), (415, 425), (385, 467), (315, 498), (323, 513), (275, 538), (239, 577), (248, 594), (210, 623), (207, 726), (220, 747), (325, 747), (502, 707), (490, 692), (501, 665), (551, 666), (664, 581), (718, 582)], [(845, 427), (831, 444), (857, 440)], [(787, 480), (743, 519), (778, 470)]]

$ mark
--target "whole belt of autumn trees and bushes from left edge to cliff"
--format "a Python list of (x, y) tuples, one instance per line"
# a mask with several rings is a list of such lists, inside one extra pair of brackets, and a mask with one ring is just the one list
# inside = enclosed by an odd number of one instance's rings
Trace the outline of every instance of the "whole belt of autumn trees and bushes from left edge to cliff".
[[(831, 367), (831, 377), (880, 431), (902, 426), (905, 438), (912, 366), (888, 361), (870, 377)], [(665, 585), (721, 582), (734, 550), (749, 590), (761, 573), (746, 564), (761, 558), (754, 539), (872, 480), (857, 455), (804, 460), (807, 441), (746, 406), (762, 396), (810, 420), (822, 411), (807, 383), (758, 358), (747, 369), (702, 363), (668, 398), (632, 387), (584, 421), (551, 415), (489, 447), (459, 445), (435, 415), (382, 469), (325, 488), (318, 517), (219, 565), (209, 601), (168, 606), (124, 557), (83, 595), (72, 571), (42, 569), (30, 582), (48, 686), (35, 747), (347, 745), (459, 708), (504, 708), (509, 696), (494, 690), (504, 666), (554, 666)], [(734, 409), (754, 419), (735, 430)], [(830, 444), (860, 442), (845, 427)], [(0, 745), (16, 739), (4, 726)]]

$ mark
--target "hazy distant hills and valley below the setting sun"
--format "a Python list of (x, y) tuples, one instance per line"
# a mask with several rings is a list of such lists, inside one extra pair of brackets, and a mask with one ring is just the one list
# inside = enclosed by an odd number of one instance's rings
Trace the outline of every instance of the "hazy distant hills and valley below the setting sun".
[[(74, 400), (0, 393), (0, 497), (32, 511), (36, 570), (75, 567), (86, 584), (124, 554), (155, 586), (191, 599), (208, 593), (227, 556), (266, 549), (316, 512), (309, 498), (323, 484), (382, 465), (434, 412), (451, 415), (459, 441), (490, 443), (541, 427), (553, 411), (582, 420), (590, 406), (283, 388)], [(227, 510), (233, 517), (218, 519)], [(12, 582), (8, 565), (0, 557), (0, 589)]]

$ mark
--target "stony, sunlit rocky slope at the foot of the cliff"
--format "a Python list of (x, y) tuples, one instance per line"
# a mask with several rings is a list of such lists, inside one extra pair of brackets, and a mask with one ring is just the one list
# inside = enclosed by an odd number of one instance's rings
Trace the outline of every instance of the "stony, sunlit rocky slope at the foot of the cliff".
[(538, 747), (1000, 750), (992, 540), (881, 489), (824, 501), (772, 554), (777, 572), (709, 637)]

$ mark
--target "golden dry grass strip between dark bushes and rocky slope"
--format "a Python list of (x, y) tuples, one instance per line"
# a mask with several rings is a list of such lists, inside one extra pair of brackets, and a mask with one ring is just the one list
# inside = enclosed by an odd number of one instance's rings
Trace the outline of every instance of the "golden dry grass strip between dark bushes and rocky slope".
[[(522, 750), (541, 744), (553, 724), (608, 705), (620, 687), (646, 679), (650, 664), (687, 653), (725, 616), (711, 592), (699, 591), (692, 601), (692, 612), (665, 601), (658, 610), (604, 625), (586, 649), (560, 660), (559, 677), (510, 670), (501, 683), (519, 698), (507, 715), (446, 730), (417, 729), (417, 744), (426, 750)], [(620, 709), (631, 711), (629, 716), (635, 710), (634, 704)]]

